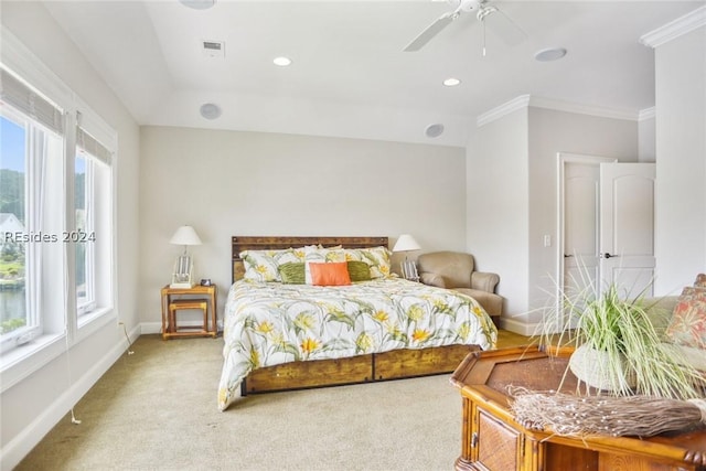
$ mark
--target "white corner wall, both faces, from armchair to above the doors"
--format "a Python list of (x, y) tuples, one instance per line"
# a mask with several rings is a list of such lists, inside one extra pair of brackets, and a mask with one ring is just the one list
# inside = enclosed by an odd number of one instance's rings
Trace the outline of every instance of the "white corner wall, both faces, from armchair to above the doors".
[(468, 250), (500, 275), (501, 325), (531, 334), (555, 290), (557, 152), (637, 161), (638, 121), (524, 106), (471, 136)]

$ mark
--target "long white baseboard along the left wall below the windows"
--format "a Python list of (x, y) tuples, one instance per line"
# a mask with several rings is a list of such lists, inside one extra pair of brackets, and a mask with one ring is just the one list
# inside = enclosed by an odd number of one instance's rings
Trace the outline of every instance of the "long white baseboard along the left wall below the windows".
[[(137, 325), (128, 334), (130, 342), (139, 336), (140, 327)], [(10, 440), (0, 453), (0, 470), (11, 470), (34, 448), (46, 433), (68, 413), (72, 407), (93, 387), (98, 379), (125, 353), (127, 339), (121, 339), (82, 377), (77, 378), (68, 389), (62, 393), (54, 403), (42, 411), (30, 425), (24, 427)], [(81, 419), (77, 417), (77, 419)], [(77, 425), (77, 427), (79, 427)]]

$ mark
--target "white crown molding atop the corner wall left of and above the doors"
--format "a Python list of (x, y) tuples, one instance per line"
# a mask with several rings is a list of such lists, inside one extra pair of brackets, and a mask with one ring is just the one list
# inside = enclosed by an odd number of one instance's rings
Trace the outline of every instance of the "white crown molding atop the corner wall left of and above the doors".
[(517, 98), (514, 98), (480, 115), (477, 118), (477, 126), (480, 128), (481, 126), (495, 121), (496, 119), (500, 119), (513, 111), (528, 107), (545, 108), (555, 111), (575, 113), (578, 115), (596, 116), (600, 118), (624, 119), (630, 121), (637, 121), (639, 119), (639, 114), (637, 111), (582, 105), (552, 98), (535, 97), (531, 95), (521, 95)]

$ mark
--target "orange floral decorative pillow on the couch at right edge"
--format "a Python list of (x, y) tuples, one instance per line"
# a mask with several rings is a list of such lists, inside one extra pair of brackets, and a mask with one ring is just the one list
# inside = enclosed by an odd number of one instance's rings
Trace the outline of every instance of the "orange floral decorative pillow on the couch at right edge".
[(673, 343), (706, 349), (706, 289), (684, 288), (672, 312), (666, 336)]

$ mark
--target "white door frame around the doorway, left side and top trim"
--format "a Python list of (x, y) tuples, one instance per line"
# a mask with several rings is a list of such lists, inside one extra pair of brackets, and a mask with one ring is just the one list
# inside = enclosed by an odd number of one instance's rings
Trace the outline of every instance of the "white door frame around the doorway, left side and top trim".
[[(555, 307), (557, 313), (563, 313), (561, 304), (561, 290), (564, 289), (564, 247), (565, 247), (565, 231), (564, 231), (564, 208), (565, 208), (565, 194), (564, 194), (564, 179), (566, 174), (566, 165), (568, 163), (588, 163), (600, 167), (601, 163), (616, 163), (618, 159), (611, 157), (589, 156), (582, 153), (573, 152), (557, 152), (557, 231), (556, 231), (556, 292), (554, 296)], [(597, 254), (598, 255), (598, 254)]]

